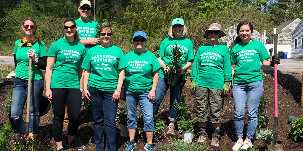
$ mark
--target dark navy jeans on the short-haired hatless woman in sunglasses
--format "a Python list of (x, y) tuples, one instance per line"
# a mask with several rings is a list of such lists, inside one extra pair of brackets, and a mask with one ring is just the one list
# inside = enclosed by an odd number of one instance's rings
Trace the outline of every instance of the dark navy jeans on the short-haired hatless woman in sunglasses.
[(101, 91), (93, 87), (88, 87), (87, 89), (91, 95), (96, 151), (105, 150), (103, 136), (104, 126), (106, 149), (108, 151), (116, 151), (116, 114), (119, 101), (112, 101), (114, 92)]

